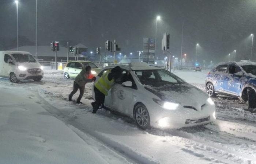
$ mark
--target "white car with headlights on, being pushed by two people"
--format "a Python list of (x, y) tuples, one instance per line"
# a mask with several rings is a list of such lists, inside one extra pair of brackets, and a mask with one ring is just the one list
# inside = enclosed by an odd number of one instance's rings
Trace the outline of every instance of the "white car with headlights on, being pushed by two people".
[[(105, 67), (97, 80), (113, 67)], [(123, 74), (104, 106), (133, 118), (139, 128), (182, 128), (215, 121), (211, 98), (169, 71), (141, 62), (120, 67)]]

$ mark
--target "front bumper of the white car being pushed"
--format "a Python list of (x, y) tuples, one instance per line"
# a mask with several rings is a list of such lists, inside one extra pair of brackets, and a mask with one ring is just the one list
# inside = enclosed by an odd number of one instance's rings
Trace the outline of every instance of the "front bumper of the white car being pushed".
[(151, 126), (161, 129), (178, 129), (188, 126), (206, 125), (216, 120), (215, 105), (206, 105), (196, 111), (188, 108), (162, 110), (157, 116), (151, 117)]

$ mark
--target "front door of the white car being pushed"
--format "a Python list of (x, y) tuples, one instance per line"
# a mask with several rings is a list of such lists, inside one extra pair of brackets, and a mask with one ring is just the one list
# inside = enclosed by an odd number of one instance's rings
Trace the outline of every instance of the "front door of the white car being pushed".
[[(122, 86), (125, 81), (131, 81), (132, 87)], [(132, 78), (132, 75), (127, 70), (123, 70), (121, 78), (116, 80), (112, 90), (112, 108), (118, 110), (121, 113), (129, 115), (133, 110), (133, 91), (136, 89), (136, 84)]]

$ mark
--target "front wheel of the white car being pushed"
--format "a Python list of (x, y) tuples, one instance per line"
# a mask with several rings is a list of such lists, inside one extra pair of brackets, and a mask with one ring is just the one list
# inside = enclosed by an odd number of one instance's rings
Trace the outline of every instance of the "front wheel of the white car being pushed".
[(150, 128), (150, 117), (145, 105), (138, 104), (135, 107), (135, 121), (140, 129), (145, 130)]

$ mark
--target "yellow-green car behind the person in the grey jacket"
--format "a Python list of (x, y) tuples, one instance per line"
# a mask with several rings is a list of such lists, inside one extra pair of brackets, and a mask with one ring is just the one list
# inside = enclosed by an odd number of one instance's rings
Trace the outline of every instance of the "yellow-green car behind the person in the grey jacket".
[(64, 68), (64, 78), (75, 78), (83, 69), (83, 67), (91, 66), (91, 73), (96, 76), (101, 69), (97, 67), (94, 63), (88, 61), (73, 61), (68, 62), (67, 66)]

